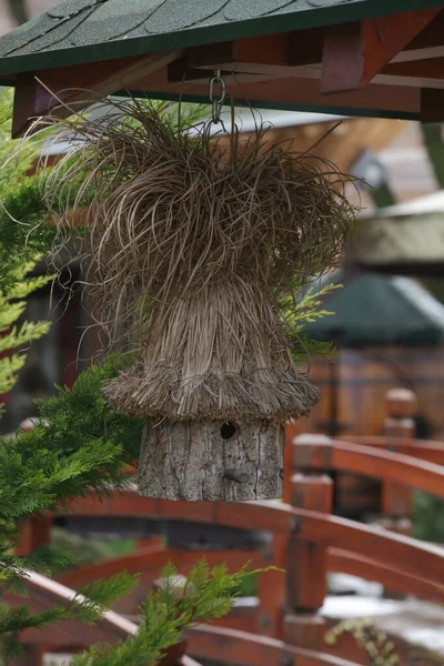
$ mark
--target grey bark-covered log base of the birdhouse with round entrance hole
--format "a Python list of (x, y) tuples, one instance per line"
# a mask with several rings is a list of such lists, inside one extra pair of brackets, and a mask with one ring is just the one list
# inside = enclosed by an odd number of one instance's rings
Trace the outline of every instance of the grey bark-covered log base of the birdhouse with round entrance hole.
[(285, 426), (270, 421), (145, 422), (139, 494), (248, 501), (283, 495)]

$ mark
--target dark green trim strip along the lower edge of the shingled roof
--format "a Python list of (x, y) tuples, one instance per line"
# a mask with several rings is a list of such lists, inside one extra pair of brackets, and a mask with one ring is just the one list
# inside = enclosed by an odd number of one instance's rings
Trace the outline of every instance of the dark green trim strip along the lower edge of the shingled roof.
[[(325, 2), (327, 4), (322, 7), (311, 7), (285, 13), (268, 13), (256, 18), (224, 21), (173, 32), (112, 39), (85, 46), (48, 48), (23, 56), (4, 56), (0, 58), (0, 75), (10, 77), (20, 72), (34, 72), (129, 56), (173, 51), (232, 39), (304, 30), (379, 16), (444, 7), (443, 0), (352, 0), (340, 4), (337, 2), (332, 4), (329, 0)], [(23, 46), (26, 44), (27, 42), (23, 43)]]

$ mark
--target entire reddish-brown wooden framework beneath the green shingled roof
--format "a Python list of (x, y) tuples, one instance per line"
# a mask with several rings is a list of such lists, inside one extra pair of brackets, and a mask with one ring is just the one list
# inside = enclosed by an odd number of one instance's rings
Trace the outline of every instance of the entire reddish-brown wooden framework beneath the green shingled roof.
[[(415, 118), (421, 90), (444, 89), (443, 64), (444, 11), (434, 8), (51, 68), (17, 75), (13, 135), (27, 130), (30, 118), (68, 114), (122, 89), (202, 102), (214, 69), (222, 71), (230, 97), (254, 105), (278, 101), (289, 109)], [(427, 111), (430, 98), (423, 93), (423, 120), (444, 117), (438, 109)]]

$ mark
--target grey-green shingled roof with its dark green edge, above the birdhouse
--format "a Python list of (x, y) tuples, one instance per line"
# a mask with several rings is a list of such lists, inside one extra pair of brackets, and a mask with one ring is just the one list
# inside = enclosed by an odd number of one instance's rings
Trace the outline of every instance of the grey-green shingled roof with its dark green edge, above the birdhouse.
[(0, 38), (0, 74), (443, 4), (443, 0), (65, 0)]

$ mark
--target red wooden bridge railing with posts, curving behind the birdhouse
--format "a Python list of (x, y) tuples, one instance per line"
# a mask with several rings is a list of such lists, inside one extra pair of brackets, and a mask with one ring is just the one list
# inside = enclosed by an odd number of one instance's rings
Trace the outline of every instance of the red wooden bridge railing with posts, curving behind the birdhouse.
[[(366, 657), (351, 638), (341, 638), (334, 647), (324, 644), (329, 623), (322, 619), (319, 609), (324, 603), (329, 572), (376, 581), (390, 589), (418, 598), (444, 601), (444, 548), (395, 532), (395, 521), (410, 517), (413, 488), (444, 496), (444, 444), (412, 438), (412, 423), (405, 406), (408, 401), (404, 398), (405, 395), (401, 400), (393, 394), (387, 401), (392, 413), (386, 432), (392, 434), (384, 437), (344, 437), (344, 441), (319, 435), (295, 437), (294, 427), (289, 428), (285, 504), (168, 502), (140, 497), (134, 491), (127, 491), (112, 494), (101, 503), (85, 497), (69, 506), (73, 518), (161, 518), (210, 523), (221, 528), (266, 531), (271, 536), (266, 546), (252, 551), (200, 553), (161, 549), (159, 543), (145, 544), (134, 555), (89, 565), (64, 574), (60, 581), (78, 588), (124, 568), (141, 573), (138, 589), (115, 606), (125, 616), (135, 617), (138, 605), (168, 559), (173, 561), (183, 574), (203, 554), (210, 564), (225, 562), (233, 569), (248, 559), (259, 567), (274, 564), (284, 568), (285, 574), (260, 575), (255, 604), (235, 607), (218, 627), (193, 630), (190, 654), (198, 658), (215, 659), (219, 656), (218, 660), (252, 665), (261, 664), (263, 659), (278, 665), (282, 664), (282, 658), (287, 658), (290, 664), (296, 656), (299, 666), (350, 664), (344, 659), (366, 664)], [(381, 507), (393, 518), (393, 531), (332, 515), (333, 481), (329, 473), (333, 471), (382, 480)], [(58, 514), (59, 517), (62, 515), (65, 514)], [(30, 525), (29, 543), (36, 545), (36, 541), (49, 538), (50, 519), (41, 519), (39, 533), (39, 521), (34, 521), (34, 526)], [(46, 645), (51, 645), (51, 636), (43, 634)], [(33, 642), (32, 634), (26, 638)], [(235, 646), (239, 648), (236, 658), (233, 656)], [(402, 659), (406, 659), (408, 646), (398, 640), (397, 648)]]

